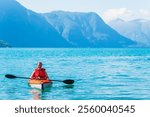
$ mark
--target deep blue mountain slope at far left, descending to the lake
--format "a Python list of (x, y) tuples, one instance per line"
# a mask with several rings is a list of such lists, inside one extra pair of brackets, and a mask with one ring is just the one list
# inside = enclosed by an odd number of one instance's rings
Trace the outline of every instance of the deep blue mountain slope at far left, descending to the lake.
[(45, 18), (15, 0), (0, 0), (0, 39), (13, 47), (69, 47)]

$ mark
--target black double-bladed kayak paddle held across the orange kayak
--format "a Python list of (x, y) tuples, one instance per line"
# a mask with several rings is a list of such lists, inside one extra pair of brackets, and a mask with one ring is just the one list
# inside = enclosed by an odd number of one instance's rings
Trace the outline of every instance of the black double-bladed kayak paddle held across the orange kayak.
[[(5, 77), (9, 78), (9, 79), (15, 79), (15, 78), (30, 79), (28, 77), (18, 77), (18, 76), (12, 75), (12, 74), (6, 74)], [(67, 80), (52, 80), (52, 81), (63, 82), (65, 84), (73, 84), (74, 83), (74, 80), (71, 80), (71, 79), (67, 79)]]

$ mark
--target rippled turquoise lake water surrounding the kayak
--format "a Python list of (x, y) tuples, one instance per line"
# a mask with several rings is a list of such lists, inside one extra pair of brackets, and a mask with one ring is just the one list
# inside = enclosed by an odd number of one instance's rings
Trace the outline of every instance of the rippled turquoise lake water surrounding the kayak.
[[(38, 61), (54, 82), (40, 91), (25, 79)], [(150, 49), (0, 49), (0, 99), (43, 100), (149, 100)]]

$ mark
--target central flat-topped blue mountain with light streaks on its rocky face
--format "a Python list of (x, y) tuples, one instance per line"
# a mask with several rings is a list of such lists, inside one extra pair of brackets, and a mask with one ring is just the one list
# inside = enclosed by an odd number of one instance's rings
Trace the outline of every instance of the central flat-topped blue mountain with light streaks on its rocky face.
[(76, 47), (129, 47), (134, 44), (93, 12), (54, 11), (42, 15), (68, 43)]

